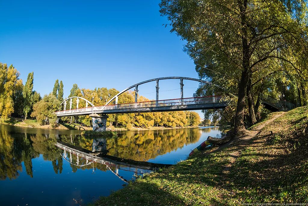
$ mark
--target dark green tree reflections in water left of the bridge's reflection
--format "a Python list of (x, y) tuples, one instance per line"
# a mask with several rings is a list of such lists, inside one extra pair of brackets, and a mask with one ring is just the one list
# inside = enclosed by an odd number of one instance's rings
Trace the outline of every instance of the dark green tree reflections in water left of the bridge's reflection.
[(8, 133), (5, 128), (0, 131), (0, 179), (15, 179), (22, 171), (24, 162), (26, 173), (33, 177), (32, 159), (43, 155), (44, 160), (51, 161), (55, 173), (61, 173), (63, 159), (61, 150), (55, 146), (55, 136), (45, 134)]

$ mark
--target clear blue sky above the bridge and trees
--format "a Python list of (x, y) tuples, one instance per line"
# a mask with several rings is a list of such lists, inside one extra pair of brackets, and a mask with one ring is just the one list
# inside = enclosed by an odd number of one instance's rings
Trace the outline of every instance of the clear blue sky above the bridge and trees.
[[(162, 26), (169, 22), (159, 2), (1, 1), (0, 62), (13, 64), (23, 83), (33, 71), (42, 96), (56, 79), (67, 97), (74, 83), (123, 90), (156, 77), (198, 78), (185, 42)], [(184, 84), (184, 97), (192, 97), (198, 84)], [(161, 81), (160, 99), (180, 98), (178, 88), (179, 80)], [(154, 82), (139, 88), (149, 99), (154, 92)]]

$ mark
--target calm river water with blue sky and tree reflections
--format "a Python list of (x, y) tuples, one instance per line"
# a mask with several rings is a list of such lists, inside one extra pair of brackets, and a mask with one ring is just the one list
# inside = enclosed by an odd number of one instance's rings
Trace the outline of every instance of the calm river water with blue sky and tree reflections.
[(78, 130), (0, 125), (0, 205), (76, 205), (123, 188), (137, 175), (187, 158), (218, 127), (122, 131), (89, 138)]

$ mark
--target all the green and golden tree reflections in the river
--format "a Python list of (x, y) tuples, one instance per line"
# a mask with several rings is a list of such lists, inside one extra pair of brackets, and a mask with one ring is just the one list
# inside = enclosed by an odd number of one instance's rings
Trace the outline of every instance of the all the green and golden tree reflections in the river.
[[(87, 138), (82, 135), (11, 133), (4, 129), (0, 131), (0, 178), (16, 179), (18, 171), (22, 171), (22, 162), (26, 173), (33, 177), (32, 159), (39, 155), (42, 155), (45, 161), (51, 161), (55, 173), (61, 173), (64, 151), (56, 146), (57, 141), (97, 154), (148, 161), (184, 145), (195, 143), (202, 132), (210, 130), (211, 128), (126, 131), (113, 138), (103, 139)], [(69, 158), (76, 163), (79, 157), (72, 155)], [(86, 165), (87, 160), (84, 158), (79, 158), (78, 161), (83, 167), (70, 164), (73, 172), (77, 169), (108, 170), (108, 166), (102, 163), (92, 162)]]

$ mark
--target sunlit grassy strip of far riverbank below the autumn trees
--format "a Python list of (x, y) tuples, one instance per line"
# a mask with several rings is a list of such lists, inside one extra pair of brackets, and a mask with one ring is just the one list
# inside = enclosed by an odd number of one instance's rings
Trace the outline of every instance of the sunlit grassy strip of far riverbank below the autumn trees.
[[(70, 124), (70, 123), (61, 123), (58, 127), (52, 128), (50, 125), (40, 125), (36, 120), (32, 119), (21, 119), (21, 118), (14, 118), (10, 117), (4, 120), (2, 124), (12, 125), (12, 126), (19, 126), (19, 127), (30, 127), (30, 128), (38, 128), (38, 129), (57, 129), (57, 130), (93, 130), (92, 127), (87, 126), (80, 126), (77, 124)], [(198, 127), (198, 126), (197, 126)], [(196, 128), (192, 126), (187, 127), (150, 127), (150, 128), (143, 128), (143, 127), (132, 127), (130, 130), (137, 131), (137, 130), (170, 130), (170, 129), (183, 129), (183, 128)], [(107, 130), (112, 131), (125, 131), (128, 130), (124, 127), (115, 127), (115, 126), (107, 126)]]

